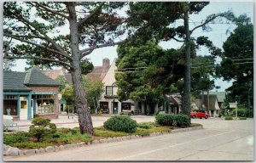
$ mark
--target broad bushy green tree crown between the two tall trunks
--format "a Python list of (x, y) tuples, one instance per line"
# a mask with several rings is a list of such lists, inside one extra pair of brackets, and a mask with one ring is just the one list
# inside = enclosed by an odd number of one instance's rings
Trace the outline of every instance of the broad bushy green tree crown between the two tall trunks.
[(146, 99), (153, 107), (163, 101), (165, 93), (175, 89), (175, 83), (183, 76), (182, 56), (175, 49), (160, 48), (157, 43), (151, 39), (143, 44), (119, 46), (117, 67), (134, 68), (115, 75), (119, 100)]

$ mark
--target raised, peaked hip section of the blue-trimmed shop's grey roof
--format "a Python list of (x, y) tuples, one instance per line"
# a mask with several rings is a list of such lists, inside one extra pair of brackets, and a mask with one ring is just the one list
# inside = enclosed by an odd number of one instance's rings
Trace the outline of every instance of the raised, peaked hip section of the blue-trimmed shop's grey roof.
[(60, 83), (44, 75), (38, 67), (34, 66), (26, 71), (24, 84), (33, 86), (59, 86)]

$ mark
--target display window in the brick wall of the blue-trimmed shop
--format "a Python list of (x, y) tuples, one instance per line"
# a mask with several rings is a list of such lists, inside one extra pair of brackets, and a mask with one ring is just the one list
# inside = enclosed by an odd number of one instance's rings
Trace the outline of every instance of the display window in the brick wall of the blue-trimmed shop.
[(54, 95), (37, 95), (38, 114), (55, 113)]

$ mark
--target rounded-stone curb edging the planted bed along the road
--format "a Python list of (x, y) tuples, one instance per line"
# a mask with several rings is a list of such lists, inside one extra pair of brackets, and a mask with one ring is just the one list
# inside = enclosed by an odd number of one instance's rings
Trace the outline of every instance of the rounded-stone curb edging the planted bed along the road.
[(11, 147), (9, 145), (3, 144), (3, 156), (24, 156), (24, 155), (38, 155), (38, 154), (44, 154), (44, 153), (49, 153), (49, 152), (58, 152), (61, 150), (65, 149), (77, 149), (79, 147), (84, 147), (84, 146), (90, 146), (94, 145), (97, 143), (112, 143), (112, 142), (120, 142), (120, 141), (125, 141), (129, 139), (138, 139), (138, 138), (148, 138), (148, 137), (155, 137), (155, 136), (160, 136), (160, 135), (166, 135), (170, 133), (177, 133), (177, 132), (188, 132), (188, 131), (193, 131), (193, 130), (199, 130), (203, 129), (203, 126), (194, 126), (194, 127), (188, 127), (188, 128), (179, 128), (175, 129), (169, 132), (153, 132), (150, 133), (149, 135), (131, 135), (131, 136), (123, 136), (123, 137), (114, 137), (114, 138), (102, 138), (99, 140), (93, 140), (91, 142), (85, 143), (71, 143), (71, 144), (65, 144), (61, 146), (49, 146), (46, 148), (40, 148), (40, 149), (25, 149), (21, 150), (18, 148)]

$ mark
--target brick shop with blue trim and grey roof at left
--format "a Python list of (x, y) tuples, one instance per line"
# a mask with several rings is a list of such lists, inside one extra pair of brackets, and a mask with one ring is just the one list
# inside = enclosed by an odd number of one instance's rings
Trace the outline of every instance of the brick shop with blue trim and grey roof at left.
[(3, 71), (3, 114), (18, 120), (57, 118), (59, 85), (36, 66), (26, 72)]

